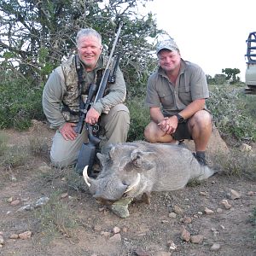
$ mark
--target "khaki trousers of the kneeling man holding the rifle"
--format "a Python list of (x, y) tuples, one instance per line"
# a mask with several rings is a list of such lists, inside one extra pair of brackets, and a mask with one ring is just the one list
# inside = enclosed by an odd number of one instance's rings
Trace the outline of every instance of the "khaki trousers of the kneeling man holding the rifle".
[[(111, 108), (108, 114), (101, 115), (100, 125), (103, 136), (100, 143), (102, 153), (108, 152), (110, 144), (125, 143), (130, 127), (130, 113), (124, 104), (118, 104)], [(84, 129), (75, 140), (66, 141), (60, 131), (56, 131), (50, 149), (50, 160), (58, 167), (71, 166), (76, 163), (79, 157), (79, 150), (83, 143), (88, 140), (87, 131)]]

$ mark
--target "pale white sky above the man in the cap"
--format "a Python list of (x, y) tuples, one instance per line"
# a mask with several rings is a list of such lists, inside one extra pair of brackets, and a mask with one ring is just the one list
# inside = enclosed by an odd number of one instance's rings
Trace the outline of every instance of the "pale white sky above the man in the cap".
[(239, 68), (244, 81), (246, 40), (256, 32), (256, 0), (153, 0), (159, 29), (176, 41), (182, 58), (214, 77), (223, 68)]

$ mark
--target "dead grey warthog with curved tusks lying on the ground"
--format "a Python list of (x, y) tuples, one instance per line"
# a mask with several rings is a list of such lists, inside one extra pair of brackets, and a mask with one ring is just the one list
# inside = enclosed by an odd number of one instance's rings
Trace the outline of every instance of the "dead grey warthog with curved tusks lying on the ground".
[(96, 179), (86, 175), (90, 193), (101, 201), (140, 198), (151, 191), (182, 189), (190, 180), (206, 179), (214, 173), (201, 166), (187, 148), (160, 143), (123, 143), (109, 154), (97, 154), (102, 171)]

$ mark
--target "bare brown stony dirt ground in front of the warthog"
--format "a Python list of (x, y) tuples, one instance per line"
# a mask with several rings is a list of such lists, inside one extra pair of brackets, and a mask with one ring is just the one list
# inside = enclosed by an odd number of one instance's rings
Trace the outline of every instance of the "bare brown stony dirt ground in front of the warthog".
[[(14, 147), (29, 145), (37, 137), (44, 138), (49, 147), (54, 135), (39, 122), (30, 131), (4, 132)], [(216, 135), (212, 137), (211, 155), (226, 147), (218, 139)], [(4, 240), (1, 255), (256, 254), (255, 226), (250, 221), (256, 184), (249, 179), (217, 174), (185, 189), (154, 193), (150, 205), (134, 203), (129, 208), (130, 217), (119, 218), (96, 203), (83, 181), (72, 177), (72, 170), (55, 170), (45, 157), (31, 156), (26, 165), (12, 170), (0, 167), (0, 172), (0, 232)], [(230, 189), (241, 197), (230, 199)], [(44, 207), (20, 210), (46, 197), (49, 201)], [(15, 200), (17, 204), (13, 203)], [(230, 209), (220, 204), (222, 200), (228, 200)], [(170, 213), (175, 207), (180, 207), (181, 212), (172, 218)], [(206, 207), (213, 212), (207, 214)], [(114, 227), (119, 228), (115, 236)], [(201, 235), (203, 240), (184, 241), (184, 228), (190, 236)], [(30, 238), (10, 238), (26, 230), (32, 231)], [(175, 250), (170, 249), (170, 241), (176, 245)], [(213, 244), (220, 248), (212, 251)]]

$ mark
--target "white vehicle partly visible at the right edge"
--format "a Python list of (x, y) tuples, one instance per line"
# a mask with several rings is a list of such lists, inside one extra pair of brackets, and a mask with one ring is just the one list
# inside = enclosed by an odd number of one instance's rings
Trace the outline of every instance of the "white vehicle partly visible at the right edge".
[(256, 94), (256, 32), (251, 32), (247, 38), (247, 69), (245, 93)]

